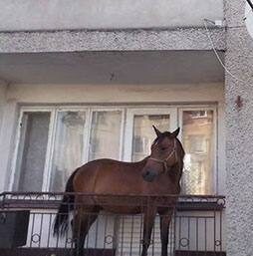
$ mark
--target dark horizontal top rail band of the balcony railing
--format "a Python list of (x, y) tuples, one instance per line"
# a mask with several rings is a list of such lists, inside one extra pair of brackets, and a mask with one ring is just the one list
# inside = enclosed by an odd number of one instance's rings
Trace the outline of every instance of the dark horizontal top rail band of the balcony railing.
[[(173, 206), (179, 211), (183, 210), (222, 210), (225, 208), (224, 195), (135, 195), (135, 194), (93, 194), (93, 193), (67, 193), (67, 192), (3, 192), (0, 193), (0, 207), (4, 208), (36, 208), (56, 209), (61, 204), (62, 197), (81, 196), (90, 199), (100, 200), (103, 205), (129, 205), (144, 206), (150, 201), (156, 206)], [(174, 201), (175, 200), (175, 201)]]

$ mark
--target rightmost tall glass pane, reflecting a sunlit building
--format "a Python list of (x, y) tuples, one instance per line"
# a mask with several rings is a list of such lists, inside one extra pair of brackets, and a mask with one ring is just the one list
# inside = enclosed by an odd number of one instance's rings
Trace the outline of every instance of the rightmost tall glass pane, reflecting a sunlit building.
[(213, 193), (213, 111), (184, 111), (183, 192)]

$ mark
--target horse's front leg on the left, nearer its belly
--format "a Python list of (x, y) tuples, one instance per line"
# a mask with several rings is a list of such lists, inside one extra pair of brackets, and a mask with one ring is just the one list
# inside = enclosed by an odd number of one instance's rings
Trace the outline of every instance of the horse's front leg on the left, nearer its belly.
[(147, 250), (148, 250), (148, 247), (150, 245), (150, 239), (151, 239), (151, 233), (152, 233), (152, 228), (153, 228), (155, 215), (156, 215), (156, 208), (148, 209), (144, 213), (141, 256), (146, 256), (147, 255)]

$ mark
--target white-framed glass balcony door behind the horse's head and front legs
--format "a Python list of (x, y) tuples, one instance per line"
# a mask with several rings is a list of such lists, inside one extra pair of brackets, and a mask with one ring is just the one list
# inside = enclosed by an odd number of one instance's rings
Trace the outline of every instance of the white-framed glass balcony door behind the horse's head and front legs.
[[(172, 131), (177, 128), (176, 109), (138, 109), (128, 110), (125, 139), (125, 160), (138, 161), (150, 153), (151, 143), (155, 138), (152, 128), (160, 131)], [(143, 225), (142, 215), (122, 216), (119, 225), (118, 250), (124, 255), (137, 256), (141, 251), (140, 241)], [(171, 239), (172, 236), (169, 238)], [(148, 251), (159, 255), (160, 235), (159, 219), (156, 218), (151, 236), (152, 243)], [(169, 244), (171, 244), (169, 242)]]

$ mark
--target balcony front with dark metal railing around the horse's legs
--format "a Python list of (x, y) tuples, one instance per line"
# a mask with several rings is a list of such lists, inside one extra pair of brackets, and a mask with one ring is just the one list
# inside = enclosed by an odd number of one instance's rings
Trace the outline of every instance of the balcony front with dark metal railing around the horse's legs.
[[(0, 230), (2, 230), (0, 240), (7, 239), (6, 237), (13, 233), (13, 228), (16, 234), (20, 233), (20, 236), (16, 237), (16, 240), (6, 240), (6, 243), (2, 240), (0, 255), (71, 255), (73, 251), (71, 227), (64, 237), (52, 235), (56, 208), (59, 206), (62, 195), (64, 194), (2, 193), (0, 195)], [(99, 198), (104, 207), (110, 204), (114, 207), (136, 206), (141, 209), (154, 204), (157, 207), (174, 207), (171, 200), (175, 198), (173, 195), (101, 195), (100, 197), (78, 195), (84, 197), (87, 202)], [(179, 196), (170, 222), (168, 255), (225, 255), (224, 208), (224, 196)], [(120, 215), (101, 212), (85, 242), (87, 255), (140, 255), (143, 225), (141, 214)], [(11, 240), (13, 240), (12, 246)], [(160, 255), (160, 250), (157, 216), (148, 255)]]

